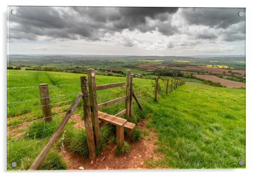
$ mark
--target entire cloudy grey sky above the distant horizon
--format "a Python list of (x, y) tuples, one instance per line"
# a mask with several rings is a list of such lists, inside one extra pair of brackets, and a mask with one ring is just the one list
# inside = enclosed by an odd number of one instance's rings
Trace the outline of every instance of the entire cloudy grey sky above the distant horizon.
[(244, 8), (9, 6), (8, 19), (9, 54), (245, 54)]

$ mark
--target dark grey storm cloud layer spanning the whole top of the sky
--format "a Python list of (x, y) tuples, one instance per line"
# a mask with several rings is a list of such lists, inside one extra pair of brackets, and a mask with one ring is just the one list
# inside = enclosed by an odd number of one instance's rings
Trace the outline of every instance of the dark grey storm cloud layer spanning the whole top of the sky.
[[(10, 8), (12, 9), (12, 8)], [(238, 16), (243, 8), (152, 8), (152, 7), (16, 7), (17, 14), (9, 14), (9, 38), (39, 40), (52, 39), (103, 40), (105, 34), (123, 30), (141, 33), (158, 31), (164, 36), (180, 34), (181, 26), (172, 24), (174, 14), (186, 25), (207, 26), (211, 30), (186, 33), (196, 40), (237, 41), (245, 39), (245, 17)], [(196, 27), (197, 28), (197, 27)], [(218, 33), (218, 31), (221, 32)], [(123, 45), (134, 41), (123, 38)], [(168, 44), (168, 48), (174, 47)]]

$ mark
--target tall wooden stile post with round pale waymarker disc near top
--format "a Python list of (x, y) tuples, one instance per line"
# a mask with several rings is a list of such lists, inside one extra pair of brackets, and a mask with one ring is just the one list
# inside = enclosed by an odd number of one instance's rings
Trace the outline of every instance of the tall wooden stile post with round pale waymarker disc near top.
[(94, 69), (87, 70), (88, 76), (88, 88), (89, 88), (89, 99), (91, 106), (91, 122), (94, 127), (94, 135), (96, 140), (96, 145), (100, 146), (100, 125), (98, 116), (98, 104), (97, 104), (97, 92), (96, 92), (96, 80)]

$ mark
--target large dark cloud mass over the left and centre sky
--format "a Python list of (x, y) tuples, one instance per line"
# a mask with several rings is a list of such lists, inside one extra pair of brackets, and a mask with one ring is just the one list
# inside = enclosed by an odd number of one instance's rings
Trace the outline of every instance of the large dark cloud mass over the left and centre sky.
[[(140, 7), (72, 7), (58, 10), (52, 7), (22, 6), (17, 8), (15, 16), (9, 15), (9, 21), (17, 24), (10, 27), (9, 38), (32, 39), (26, 35), (34, 34), (94, 41), (100, 40), (105, 33), (122, 32), (124, 29), (139, 30), (142, 33), (156, 30), (157, 25), (148, 25), (147, 18), (158, 22), (160, 33), (172, 35), (172, 26), (161, 23), (177, 10), (178, 8)], [(168, 28), (163, 29), (161, 25)]]

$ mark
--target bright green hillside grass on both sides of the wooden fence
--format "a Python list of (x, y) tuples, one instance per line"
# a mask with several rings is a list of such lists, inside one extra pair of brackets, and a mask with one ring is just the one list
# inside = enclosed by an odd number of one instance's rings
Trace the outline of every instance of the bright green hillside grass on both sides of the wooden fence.
[[(133, 72), (132, 72), (133, 73)], [(80, 76), (84, 74), (46, 72), (46, 71), (25, 71), (25, 70), (8, 70), (8, 88), (37, 86), (39, 83), (48, 83), (48, 85), (63, 85), (49, 87), (51, 103), (54, 106), (62, 108), (52, 110), (53, 114), (58, 114), (67, 110), (76, 94), (80, 91)], [(183, 78), (182, 78), (183, 79)], [(97, 85), (124, 82), (124, 77), (110, 77), (96, 75)], [(138, 95), (142, 103), (143, 110), (139, 110), (134, 102), (134, 115), (130, 119), (136, 123), (140, 118), (150, 117), (147, 124), (149, 129), (156, 132), (158, 137), (158, 146), (156, 149), (164, 154), (160, 160), (154, 161), (148, 159), (145, 161), (150, 168), (245, 168), (245, 165), (239, 166), (239, 160), (245, 162), (245, 89), (206, 87), (199, 85), (182, 85), (169, 94), (165, 94), (165, 82), (159, 81), (159, 99), (154, 102), (154, 80), (144, 80), (134, 78), (134, 90), (139, 90)], [(65, 85), (75, 84), (75, 85)], [(125, 93), (124, 88), (112, 88), (98, 91), (98, 103), (119, 97)], [(20, 88), (8, 89), (7, 92), (7, 125), (14, 126), (23, 121), (32, 121), (41, 118), (40, 100), (38, 88)], [(20, 103), (24, 100), (36, 99)], [(17, 102), (11, 104), (12, 102)], [(63, 102), (63, 103), (58, 103)], [(81, 103), (79, 107), (81, 107)], [(39, 107), (38, 107), (39, 106)], [(32, 108), (31, 108), (32, 107)], [(26, 109), (22, 110), (20, 109)], [(124, 109), (124, 103), (111, 105), (102, 111), (115, 114)], [(16, 112), (16, 110), (19, 110)], [(81, 109), (76, 113), (81, 113)], [(20, 114), (19, 116), (17, 116)], [(61, 115), (57, 115), (61, 118)], [(57, 118), (56, 118), (57, 119)], [(56, 126), (58, 121), (54, 121), (50, 126)], [(33, 123), (27, 126), (26, 134), (34, 134), (38, 129), (44, 129), (45, 125), (41, 122)], [(81, 156), (87, 156), (85, 133), (76, 131), (67, 126), (65, 134), (65, 146), (74, 150)], [(13, 154), (19, 154), (14, 160), (20, 160), (18, 168), (28, 168), (33, 161), (27, 158), (28, 154), (33, 154), (33, 150), (40, 151), (46, 142), (47, 137), (54, 130), (36, 133), (33, 137), (18, 139), (16, 143), (10, 143), (8, 152), (17, 150)], [(21, 130), (24, 132), (24, 129)], [(111, 139), (111, 129), (102, 128), (102, 144), (107, 145)], [(68, 137), (69, 136), (69, 137)], [(40, 141), (39, 139), (43, 139)], [(137, 137), (137, 140), (139, 138)], [(8, 140), (14, 140), (9, 136)], [(32, 145), (37, 143), (36, 145)], [(31, 145), (29, 149), (26, 145)], [(56, 144), (57, 146), (60, 144)], [(103, 145), (103, 146), (104, 146)], [(101, 148), (103, 147), (101, 146)], [(59, 146), (58, 146), (59, 147)], [(28, 151), (27, 151), (28, 150)], [(97, 150), (99, 153), (100, 148)], [(52, 156), (51, 156), (52, 155)], [(11, 155), (10, 155), (11, 156)], [(15, 155), (16, 156), (16, 155)], [(19, 158), (21, 157), (21, 159)], [(53, 158), (57, 158), (52, 162)], [(7, 162), (9, 164), (10, 160)], [(49, 165), (55, 164), (55, 165)], [(57, 163), (57, 164), (56, 164)], [(53, 166), (53, 167), (52, 167)], [(41, 169), (65, 169), (65, 163), (56, 150), (45, 161)], [(8, 170), (12, 168), (9, 167)]]

